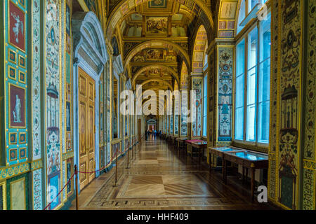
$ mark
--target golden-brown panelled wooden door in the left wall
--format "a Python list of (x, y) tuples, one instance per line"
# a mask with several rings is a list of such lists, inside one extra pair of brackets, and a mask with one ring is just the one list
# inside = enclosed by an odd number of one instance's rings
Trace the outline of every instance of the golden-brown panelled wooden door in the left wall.
[(96, 82), (79, 67), (79, 170), (80, 189), (95, 177), (95, 100)]

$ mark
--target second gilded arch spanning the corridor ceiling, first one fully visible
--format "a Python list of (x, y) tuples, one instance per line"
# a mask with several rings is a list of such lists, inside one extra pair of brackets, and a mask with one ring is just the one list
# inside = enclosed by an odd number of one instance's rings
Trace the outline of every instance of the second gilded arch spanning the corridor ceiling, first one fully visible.
[(190, 57), (187, 55), (187, 52), (183, 50), (183, 48), (180, 47), (180, 45), (176, 43), (172, 43), (170, 41), (164, 41), (164, 40), (152, 40), (152, 41), (145, 41), (143, 43), (140, 43), (136, 45), (128, 55), (126, 55), (124, 59), (124, 73), (126, 72), (127, 66), (129, 65), (129, 62), (131, 62), (131, 59), (141, 50), (144, 50), (146, 48), (167, 48), (169, 50), (175, 50), (180, 57), (182, 57), (185, 64), (187, 64), (187, 68), (190, 69)]

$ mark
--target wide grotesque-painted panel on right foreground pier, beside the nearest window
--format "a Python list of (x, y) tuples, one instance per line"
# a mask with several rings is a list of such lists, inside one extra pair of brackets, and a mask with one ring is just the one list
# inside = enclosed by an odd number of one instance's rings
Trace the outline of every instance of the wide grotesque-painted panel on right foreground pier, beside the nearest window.
[(301, 52), (303, 1), (279, 3), (282, 16), (279, 27), (279, 148), (277, 148), (277, 202), (298, 209), (301, 157)]

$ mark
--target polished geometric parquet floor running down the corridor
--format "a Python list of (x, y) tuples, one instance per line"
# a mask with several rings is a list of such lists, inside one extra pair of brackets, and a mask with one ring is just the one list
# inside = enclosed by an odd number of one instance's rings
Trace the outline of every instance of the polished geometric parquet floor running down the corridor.
[(79, 209), (276, 209), (250, 202), (249, 185), (234, 176), (223, 184), (220, 172), (209, 174), (206, 161), (179, 157), (165, 141), (143, 141), (133, 151), (130, 169), (127, 156), (118, 162), (117, 187), (112, 169), (81, 191)]

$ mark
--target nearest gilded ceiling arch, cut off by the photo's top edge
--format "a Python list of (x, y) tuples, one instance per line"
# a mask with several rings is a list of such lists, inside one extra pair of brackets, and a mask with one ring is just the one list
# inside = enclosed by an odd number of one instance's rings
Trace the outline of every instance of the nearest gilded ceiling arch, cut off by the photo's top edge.
[[(111, 38), (112, 32), (114, 31), (115, 27), (117, 27), (117, 24), (121, 18), (123, 18), (126, 13), (129, 13), (130, 10), (133, 10), (133, 8), (136, 8), (136, 6), (139, 6), (140, 4), (147, 3), (147, 1), (150, 0), (143, 0), (143, 1), (129, 1), (129, 0), (121, 0), (119, 3), (117, 3), (117, 6), (114, 7), (112, 12), (110, 13), (110, 16), (107, 20), (107, 34), (109, 34), (109, 37)], [(169, 1), (176, 1), (182, 5), (185, 5), (185, 0), (169, 0)], [(194, 8), (194, 11), (199, 12), (199, 10), (202, 10), (200, 14), (201, 18), (203, 20), (206, 20), (209, 22), (209, 26), (207, 28), (213, 29), (213, 16), (211, 13), (211, 10), (209, 10), (208, 6), (206, 6), (206, 3), (203, 0), (195, 0), (191, 1), (189, 4), (190, 8)], [(186, 6), (186, 5), (185, 5)]]

